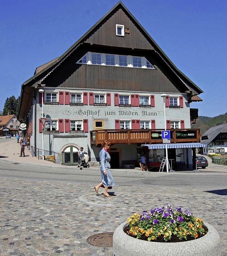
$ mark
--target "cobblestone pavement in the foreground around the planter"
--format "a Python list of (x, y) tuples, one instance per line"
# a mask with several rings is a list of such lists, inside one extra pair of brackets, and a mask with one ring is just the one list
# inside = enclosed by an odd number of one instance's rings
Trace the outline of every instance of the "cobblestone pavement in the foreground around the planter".
[(116, 186), (110, 194), (98, 196), (84, 184), (1, 179), (0, 255), (111, 256), (111, 247), (89, 245), (87, 238), (114, 232), (134, 212), (170, 203), (213, 225), (227, 256), (226, 191)]

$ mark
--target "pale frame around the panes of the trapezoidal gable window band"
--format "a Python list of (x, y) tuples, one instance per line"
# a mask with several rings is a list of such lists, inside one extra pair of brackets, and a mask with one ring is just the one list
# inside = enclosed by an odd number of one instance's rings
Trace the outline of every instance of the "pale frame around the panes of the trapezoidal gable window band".
[[(92, 63), (92, 54), (100, 54), (101, 57), (101, 63), (97, 64), (97, 63)], [(115, 59), (115, 64), (114, 65), (109, 65), (106, 64), (106, 55), (113, 55), (114, 59)], [(82, 60), (85, 58), (87, 59), (87, 62), (82, 62)], [(127, 59), (127, 66), (120, 66), (120, 56), (126, 57)], [(133, 57), (135, 58), (141, 58), (141, 62), (142, 62), (142, 66), (141, 67), (133, 67)], [(147, 63), (149, 63), (149, 65), (151, 67), (147, 67)], [(155, 69), (155, 67), (145, 58), (142, 56), (132, 56), (132, 55), (124, 55), (124, 54), (111, 54), (111, 53), (100, 53), (100, 52), (87, 52), (81, 59), (79, 59), (78, 62), (76, 62), (77, 64), (87, 64), (87, 65), (97, 65), (97, 66), (112, 66), (112, 67), (124, 67), (124, 68), (146, 68), (146, 69)]]

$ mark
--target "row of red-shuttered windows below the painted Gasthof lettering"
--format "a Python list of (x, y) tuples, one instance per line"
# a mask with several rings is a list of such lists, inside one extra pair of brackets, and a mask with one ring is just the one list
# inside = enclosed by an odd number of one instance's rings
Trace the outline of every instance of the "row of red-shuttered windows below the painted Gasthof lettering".
[[(184, 120), (166, 120), (167, 129), (184, 129)], [(88, 132), (88, 119), (52, 119), (46, 120), (45, 129), (49, 132)], [(104, 129), (104, 120), (94, 120), (94, 129)], [(115, 129), (156, 129), (155, 120), (115, 120)], [(39, 132), (42, 132), (42, 121), (39, 119)]]

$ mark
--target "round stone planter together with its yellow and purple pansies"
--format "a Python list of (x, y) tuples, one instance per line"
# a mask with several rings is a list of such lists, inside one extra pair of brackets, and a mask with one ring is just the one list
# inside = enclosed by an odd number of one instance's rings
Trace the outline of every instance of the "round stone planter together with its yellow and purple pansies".
[[(136, 239), (138, 238), (138, 239)], [(220, 256), (216, 229), (188, 210), (170, 205), (133, 214), (113, 235), (114, 256)]]

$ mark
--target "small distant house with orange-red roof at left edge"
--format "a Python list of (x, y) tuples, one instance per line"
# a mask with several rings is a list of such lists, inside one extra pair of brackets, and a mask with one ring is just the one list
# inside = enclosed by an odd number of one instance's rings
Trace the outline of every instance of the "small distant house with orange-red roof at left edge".
[(19, 131), (20, 124), (16, 115), (0, 116), (0, 136), (5, 136), (6, 134), (15, 136)]

